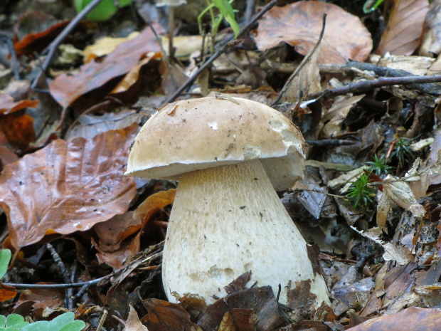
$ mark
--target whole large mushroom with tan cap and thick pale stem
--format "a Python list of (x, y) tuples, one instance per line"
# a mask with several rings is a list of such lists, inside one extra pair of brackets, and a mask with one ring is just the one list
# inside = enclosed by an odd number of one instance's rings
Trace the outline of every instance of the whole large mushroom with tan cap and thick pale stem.
[(163, 107), (142, 127), (127, 172), (178, 180), (166, 233), (162, 280), (171, 302), (186, 293), (207, 303), (251, 270), (280, 302), (298, 286), (329, 303), (307, 243), (275, 189), (304, 171), (305, 143), (287, 117), (262, 103), (216, 95)]

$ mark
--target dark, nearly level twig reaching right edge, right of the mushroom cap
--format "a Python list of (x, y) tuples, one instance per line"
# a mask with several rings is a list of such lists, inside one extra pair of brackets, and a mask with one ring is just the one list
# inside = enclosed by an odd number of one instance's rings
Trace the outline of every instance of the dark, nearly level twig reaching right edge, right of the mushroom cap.
[(362, 80), (360, 82), (348, 84), (341, 88), (334, 88), (334, 90), (324, 90), (322, 92), (313, 93), (310, 94), (308, 98), (332, 98), (336, 97), (337, 95), (344, 95), (346, 93), (363, 93), (368, 90), (372, 90), (373, 88), (382, 88), (383, 86), (410, 85), (418, 83), (441, 83), (441, 75), (386, 77), (374, 80)]

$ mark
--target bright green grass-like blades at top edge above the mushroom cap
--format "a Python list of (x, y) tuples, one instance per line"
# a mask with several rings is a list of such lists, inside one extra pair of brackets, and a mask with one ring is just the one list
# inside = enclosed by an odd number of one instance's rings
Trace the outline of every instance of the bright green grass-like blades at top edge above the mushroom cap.
[[(208, 12), (211, 16), (211, 52), (213, 53), (216, 35), (218, 34), (219, 26), (223, 19), (225, 19), (233, 29), (235, 38), (238, 37), (240, 27), (235, 20), (235, 10), (231, 6), (234, 0), (206, 0), (208, 6), (198, 16), (199, 31), (203, 35), (202, 18)], [(219, 11), (218, 16), (214, 14), (213, 8), (216, 7)]]

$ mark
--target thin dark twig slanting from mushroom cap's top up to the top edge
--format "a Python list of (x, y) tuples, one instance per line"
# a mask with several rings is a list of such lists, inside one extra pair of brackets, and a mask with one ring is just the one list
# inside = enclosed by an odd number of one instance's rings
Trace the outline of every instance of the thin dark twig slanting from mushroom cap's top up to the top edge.
[[(259, 13), (256, 14), (256, 16), (254, 16), (254, 19), (252, 19), (250, 21), (250, 23), (248, 23), (246, 26), (244, 26), (239, 34), (238, 34), (238, 38), (240, 39), (245, 33), (247, 33), (250, 28), (252, 28), (254, 26), (254, 24), (257, 22), (257, 20), (260, 19), (260, 17), (263, 16), (263, 14), (265, 14), (267, 11), (269, 11), (270, 9), (272, 9), (272, 7), (274, 7), (277, 2), (279, 2), (280, 0), (272, 0), (270, 2), (268, 2), (265, 7), (262, 8), (261, 11), (259, 11)], [(213, 54), (213, 56), (211, 56), (211, 58), (209, 58), (205, 63), (203, 63), (203, 65), (201, 65), (200, 68), (198, 68), (198, 70), (196, 70), (195, 73), (193, 73), (193, 75), (191, 75), (190, 78), (188, 78), (188, 80), (181, 85), (181, 87), (176, 90), (176, 92), (174, 93), (174, 95), (171, 95), (171, 97), (166, 100), (165, 103), (172, 103), (176, 98), (178, 98), (178, 96), (184, 92), (184, 90), (186, 88), (188, 88), (188, 86), (190, 86), (195, 80), (196, 78), (198, 78), (198, 75), (201, 75), (201, 73), (203, 72), (203, 70), (205, 70), (206, 68), (208, 68), (209, 65), (211, 65), (211, 63), (213, 63), (216, 58), (218, 58), (219, 56), (221, 56), (221, 54), (223, 54), (225, 52), (225, 50), (228, 48), (230, 41), (233, 41), (234, 37), (228, 38), (227, 41), (224, 41), (221, 44), (221, 47), (218, 49), (218, 51), (216, 53)]]

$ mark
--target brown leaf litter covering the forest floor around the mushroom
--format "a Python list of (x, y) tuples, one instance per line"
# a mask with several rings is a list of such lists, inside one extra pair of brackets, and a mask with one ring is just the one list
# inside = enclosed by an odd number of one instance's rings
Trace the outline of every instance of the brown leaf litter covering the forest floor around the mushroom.
[[(187, 19), (175, 31), (175, 59), (166, 58), (155, 36), (164, 35), (166, 26), (151, 17), (152, 26), (134, 20), (129, 8), (110, 24), (100, 23), (102, 31), (91, 21), (78, 25), (65, 43), (77, 55), (93, 45), (85, 64), (55, 61), (46, 82), (37, 82), (39, 88), (48, 85), (58, 103), (50, 116), (40, 114), (48, 103), (38, 88), (18, 93), (11, 78), (0, 81), (7, 90), (0, 94), (1, 239), (14, 252), (3, 280), (3, 315), (53, 320), (72, 310), (96, 328), (96, 315), (105, 316), (108, 308), (113, 317), (103, 318), (102, 327), (130, 331), (437, 330), (439, 86), (416, 85), (415, 78), (437, 75), (440, 1), (397, 0), (390, 10), (380, 6), (371, 14), (361, 11), (363, 1), (346, 2), (294, 1), (269, 10), (257, 4), (264, 13), (257, 28), (225, 46), (215, 65), (179, 96), (223, 93), (258, 100), (300, 127), (309, 165), (303, 181), (280, 196), (305, 238), (319, 247), (331, 305), (312, 308), (297, 292), (289, 306), (278, 305), (274, 289), (249, 284), (249, 275), (208, 307), (197, 293), (177, 304), (165, 300), (162, 241), (176, 183), (135, 183), (124, 177), (124, 168), (139, 126), (210, 57), (204, 36), (195, 36), (188, 24), (197, 17), (185, 5), (180, 8)], [(16, 23), (21, 78), (35, 77), (40, 59), (34, 57), (45, 56), (43, 47), (50, 50), (68, 23), (60, 19), (75, 20), (61, 17), (61, 7), (48, 11), (58, 14), (28, 14), (38, 18), (36, 29), (26, 27), (25, 16)], [(142, 6), (133, 8), (146, 17)], [(314, 48), (324, 13), (324, 36)], [(165, 12), (158, 15), (166, 19)], [(226, 28), (216, 41), (231, 33)], [(101, 36), (117, 39), (97, 43)], [(11, 70), (0, 70), (11, 77)], [(393, 77), (406, 84), (381, 85)], [(372, 80), (379, 82), (375, 88), (366, 85)], [(346, 92), (340, 97), (328, 91), (341, 88)], [(372, 168), (374, 156), (388, 173)], [(360, 208), (347, 193), (363, 174), (374, 204)], [(66, 277), (88, 285), (83, 291), (51, 288)], [(100, 283), (88, 283), (95, 280)], [(28, 289), (17, 298), (15, 288), (26, 288), (23, 283), (48, 288)]]

